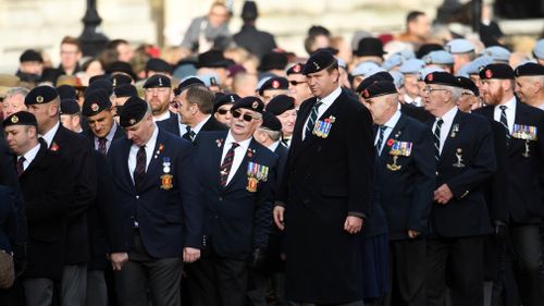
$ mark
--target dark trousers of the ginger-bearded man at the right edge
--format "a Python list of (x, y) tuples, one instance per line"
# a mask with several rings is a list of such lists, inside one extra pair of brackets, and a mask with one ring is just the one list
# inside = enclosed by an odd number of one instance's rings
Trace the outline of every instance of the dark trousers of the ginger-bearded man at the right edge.
[(537, 224), (511, 224), (515, 277), (523, 306), (544, 305), (544, 268)]

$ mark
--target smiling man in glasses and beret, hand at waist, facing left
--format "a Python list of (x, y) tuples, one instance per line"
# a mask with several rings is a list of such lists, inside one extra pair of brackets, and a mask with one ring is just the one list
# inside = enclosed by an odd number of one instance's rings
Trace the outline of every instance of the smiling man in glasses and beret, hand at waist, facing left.
[(424, 108), (435, 117), (431, 127), (436, 160), (428, 305), (444, 305), (448, 269), (455, 270), (449, 278), (453, 304), (482, 305), (483, 236), (492, 232), (484, 184), (496, 170), (491, 125), (458, 110), (462, 89), (450, 73), (432, 72), (424, 82)]

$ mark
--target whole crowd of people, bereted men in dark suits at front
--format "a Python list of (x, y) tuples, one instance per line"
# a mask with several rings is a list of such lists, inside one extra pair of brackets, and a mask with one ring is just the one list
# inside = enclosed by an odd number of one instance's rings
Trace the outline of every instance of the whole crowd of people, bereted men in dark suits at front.
[(1, 305), (544, 305), (544, 39), (231, 17), (0, 75)]

